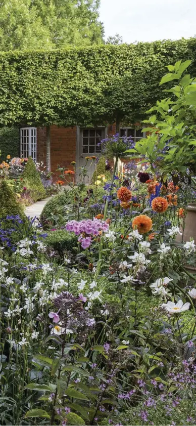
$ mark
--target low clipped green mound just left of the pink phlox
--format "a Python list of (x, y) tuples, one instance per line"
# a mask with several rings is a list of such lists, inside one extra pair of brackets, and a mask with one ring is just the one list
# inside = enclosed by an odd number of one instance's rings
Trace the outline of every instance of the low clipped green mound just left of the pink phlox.
[(62, 252), (64, 249), (71, 250), (74, 246), (77, 246), (77, 238), (73, 232), (65, 230), (50, 231), (47, 233), (44, 243), (48, 247)]

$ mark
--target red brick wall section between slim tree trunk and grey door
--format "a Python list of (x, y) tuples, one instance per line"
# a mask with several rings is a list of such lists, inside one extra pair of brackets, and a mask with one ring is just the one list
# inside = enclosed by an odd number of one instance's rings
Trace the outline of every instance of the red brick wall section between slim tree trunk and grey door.
[(57, 165), (72, 169), (70, 163), (76, 161), (76, 127), (51, 126), (51, 171)]

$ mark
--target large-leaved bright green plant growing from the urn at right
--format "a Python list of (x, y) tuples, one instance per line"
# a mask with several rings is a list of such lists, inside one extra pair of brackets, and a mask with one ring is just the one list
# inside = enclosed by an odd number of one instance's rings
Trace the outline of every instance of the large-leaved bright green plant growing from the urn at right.
[[(149, 110), (149, 113), (154, 115), (144, 120), (150, 127), (143, 131), (151, 134), (147, 139), (138, 141), (134, 149), (129, 150), (136, 155), (145, 154), (146, 161), (159, 166), (163, 175), (179, 173), (181, 177), (186, 176), (189, 180), (196, 174), (196, 78), (190, 78), (190, 74), (182, 77), (182, 74), (190, 64), (191, 61), (187, 60), (168, 66), (171, 72), (162, 78), (160, 85), (177, 80), (174, 87), (165, 90), (175, 97), (174, 101), (173, 97), (166, 98), (158, 101), (156, 106)], [(194, 183), (194, 180), (192, 181)]]

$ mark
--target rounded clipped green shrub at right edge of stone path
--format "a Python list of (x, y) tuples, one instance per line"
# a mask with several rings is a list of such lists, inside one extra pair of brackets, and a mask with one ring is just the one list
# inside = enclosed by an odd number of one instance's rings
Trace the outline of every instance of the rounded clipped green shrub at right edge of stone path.
[(54, 216), (63, 215), (64, 206), (69, 203), (68, 192), (69, 191), (61, 192), (47, 201), (40, 216), (42, 226), (46, 227), (48, 223), (53, 226), (57, 224)]

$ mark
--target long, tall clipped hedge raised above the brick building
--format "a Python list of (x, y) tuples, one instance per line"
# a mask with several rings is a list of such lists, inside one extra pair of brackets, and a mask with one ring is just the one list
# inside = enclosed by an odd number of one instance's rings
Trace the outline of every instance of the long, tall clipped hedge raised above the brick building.
[[(163, 97), (165, 66), (196, 64), (196, 39), (0, 55), (0, 123), (137, 122)], [(170, 83), (171, 84), (171, 83)], [(14, 96), (13, 96), (14, 94)]]

